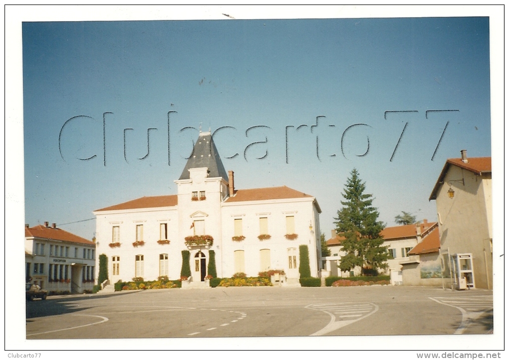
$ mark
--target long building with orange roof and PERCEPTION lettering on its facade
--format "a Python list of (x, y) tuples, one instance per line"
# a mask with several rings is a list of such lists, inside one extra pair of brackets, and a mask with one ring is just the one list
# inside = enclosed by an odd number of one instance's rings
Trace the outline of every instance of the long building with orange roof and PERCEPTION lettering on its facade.
[(25, 277), (55, 293), (92, 290), (95, 278), (93, 241), (56, 227), (53, 223), (25, 224)]

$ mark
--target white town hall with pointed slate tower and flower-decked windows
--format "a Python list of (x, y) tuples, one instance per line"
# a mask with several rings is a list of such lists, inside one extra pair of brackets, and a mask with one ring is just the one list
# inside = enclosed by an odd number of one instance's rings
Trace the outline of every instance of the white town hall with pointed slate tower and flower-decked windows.
[[(214, 250), (218, 277), (284, 270), (298, 284), (299, 245), (308, 246), (311, 274), (318, 277), (321, 210), (311, 195), (286, 186), (235, 189), (234, 173), (224, 170), (210, 132), (200, 133), (175, 183), (176, 195), (93, 212), (97, 254), (108, 257), (111, 283), (179, 279), (183, 250), (190, 252), (189, 280), (203, 283)], [(96, 263), (99, 269), (99, 256)]]

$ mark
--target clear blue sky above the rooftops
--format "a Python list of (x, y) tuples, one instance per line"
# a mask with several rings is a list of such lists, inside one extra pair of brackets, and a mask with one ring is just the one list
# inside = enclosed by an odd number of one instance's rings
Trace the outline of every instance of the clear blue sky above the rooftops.
[[(235, 128), (215, 143), (237, 188), (314, 195), (327, 238), (353, 168), (388, 226), (436, 221), (445, 160), (491, 155), (489, 35), (487, 17), (25, 22), (25, 222), (176, 193), (197, 137), (180, 130), (200, 124)], [(90, 239), (95, 221), (61, 227)]]

